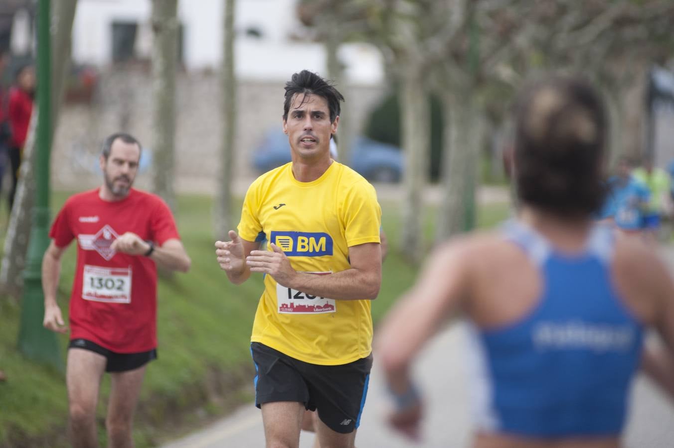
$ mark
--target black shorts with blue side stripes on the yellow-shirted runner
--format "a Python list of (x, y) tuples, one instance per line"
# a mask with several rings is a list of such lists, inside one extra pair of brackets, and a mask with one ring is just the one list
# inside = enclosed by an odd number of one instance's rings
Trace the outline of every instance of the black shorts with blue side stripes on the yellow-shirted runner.
[(372, 369), (372, 354), (353, 363), (318, 365), (251, 343), (255, 363), (255, 406), (300, 402), (337, 433), (352, 433), (361, 422)]

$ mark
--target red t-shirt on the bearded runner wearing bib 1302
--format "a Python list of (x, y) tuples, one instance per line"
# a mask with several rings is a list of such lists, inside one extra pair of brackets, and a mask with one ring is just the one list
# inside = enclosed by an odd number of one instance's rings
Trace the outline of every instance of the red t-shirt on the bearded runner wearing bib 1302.
[(179, 238), (171, 210), (154, 194), (131, 189), (117, 202), (98, 188), (71, 196), (49, 236), (59, 248), (78, 239), (78, 265), (70, 297), (70, 338), (84, 338), (113, 352), (157, 346), (157, 270), (154, 261), (111, 250), (127, 231), (162, 246)]

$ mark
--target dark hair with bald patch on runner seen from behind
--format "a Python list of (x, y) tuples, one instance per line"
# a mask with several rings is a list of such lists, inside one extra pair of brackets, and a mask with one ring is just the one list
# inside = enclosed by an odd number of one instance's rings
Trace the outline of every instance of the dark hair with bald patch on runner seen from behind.
[(522, 202), (563, 217), (587, 217), (605, 198), (606, 115), (580, 79), (553, 77), (526, 89), (517, 107), (515, 174)]

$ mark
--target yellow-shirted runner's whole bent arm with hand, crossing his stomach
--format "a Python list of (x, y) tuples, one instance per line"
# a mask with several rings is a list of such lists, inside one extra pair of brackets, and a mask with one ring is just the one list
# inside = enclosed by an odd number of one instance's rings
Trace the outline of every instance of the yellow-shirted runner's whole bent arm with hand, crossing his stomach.
[(351, 267), (330, 275), (297, 272), (283, 250), (271, 244), (274, 252), (255, 250), (246, 259), (251, 272), (270, 274), (279, 285), (303, 293), (337, 300), (376, 299), (381, 287), (379, 243), (348, 248)]

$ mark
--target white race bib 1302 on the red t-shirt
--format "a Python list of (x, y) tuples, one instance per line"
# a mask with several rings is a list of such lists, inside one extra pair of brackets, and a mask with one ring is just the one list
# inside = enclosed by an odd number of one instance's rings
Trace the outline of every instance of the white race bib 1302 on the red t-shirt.
[(84, 265), (82, 299), (131, 303), (131, 268)]

